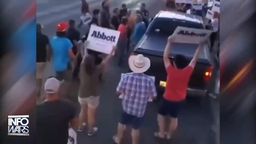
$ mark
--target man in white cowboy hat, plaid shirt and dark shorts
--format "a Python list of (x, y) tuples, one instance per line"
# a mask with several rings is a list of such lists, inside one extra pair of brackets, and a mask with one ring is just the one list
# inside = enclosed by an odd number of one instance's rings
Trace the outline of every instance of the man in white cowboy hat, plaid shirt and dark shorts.
[(118, 123), (117, 135), (114, 135), (113, 140), (120, 143), (126, 125), (132, 125), (132, 143), (138, 144), (147, 102), (149, 99), (155, 99), (157, 93), (153, 78), (143, 74), (150, 67), (148, 58), (142, 54), (131, 55), (129, 67), (133, 73), (122, 76), (117, 86), (116, 94), (123, 98), (123, 113)]

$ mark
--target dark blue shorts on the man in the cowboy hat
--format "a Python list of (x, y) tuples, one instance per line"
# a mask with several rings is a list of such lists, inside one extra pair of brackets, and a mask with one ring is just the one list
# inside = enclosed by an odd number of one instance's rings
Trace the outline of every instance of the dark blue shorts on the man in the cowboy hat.
[(143, 117), (137, 117), (134, 115), (127, 114), (123, 111), (120, 123), (123, 125), (132, 125), (132, 129), (138, 130), (142, 124)]

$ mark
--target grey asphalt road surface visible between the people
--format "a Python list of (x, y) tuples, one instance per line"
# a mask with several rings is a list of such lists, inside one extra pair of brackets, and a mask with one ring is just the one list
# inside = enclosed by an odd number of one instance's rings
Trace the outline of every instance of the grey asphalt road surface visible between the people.
[[(93, 9), (100, 9), (101, 2), (98, 0), (88, 1), (90, 11)], [(138, 0), (110, 0), (111, 10), (114, 7), (121, 7), (122, 3), (126, 3), (128, 8), (136, 9)], [(165, 9), (164, 0), (144, 0), (147, 9), (149, 10), (150, 17), (159, 10)], [(79, 0), (38, 0), (37, 1), (37, 22), (44, 26), (43, 33), (49, 37), (54, 36), (55, 25), (60, 21), (68, 21), (74, 19), (79, 22), (81, 15), (81, 4)], [(126, 57), (127, 59), (127, 57)], [(127, 63), (127, 62), (126, 62)], [(86, 132), (79, 132), (77, 135), (77, 142), (80, 143), (114, 143), (112, 137), (117, 132), (117, 123), (121, 116), (121, 100), (115, 97), (116, 86), (121, 77), (121, 73), (127, 72), (127, 64), (119, 68), (117, 61), (113, 58), (107, 68), (106, 74), (103, 76), (104, 82), (101, 86), (100, 106), (97, 114), (97, 126), (99, 131), (93, 137), (87, 137)], [(44, 80), (53, 76), (54, 70), (51, 63), (48, 63), (45, 70)], [(65, 97), (74, 101), (79, 111), (77, 102), (78, 82), (70, 82), (70, 86), (63, 94)], [(154, 132), (157, 130), (157, 103), (148, 103), (145, 120), (141, 127), (141, 144), (155, 144), (167, 143), (166, 141), (159, 141), (154, 138)], [(171, 143), (179, 144), (206, 144), (213, 142), (213, 135), (211, 126), (213, 117), (209, 101), (199, 98), (188, 98), (180, 110), (179, 114), (179, 127), (176, 136)], [(125, 137), (122, 141), (123, 144), (131, 143), (130, 129), (126, 131)]]

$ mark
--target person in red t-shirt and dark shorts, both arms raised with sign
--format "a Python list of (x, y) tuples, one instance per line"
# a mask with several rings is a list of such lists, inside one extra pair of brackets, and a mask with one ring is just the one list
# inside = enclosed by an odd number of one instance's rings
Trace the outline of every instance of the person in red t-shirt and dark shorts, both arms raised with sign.
[[(155, 132), (157, 138), (171, 139), (173, 132), (178, 127), (178, 111), (180, 103), (185, 100), (188, 88), (188, 82), (193, 73), (197, 59), (203, 49), (203, 43), (199, 44), (194, 58), (188, 62), (186, 57), (177, 54), (173, 63), (170, 62), (169, 52), (175, 37), (168, 38), (167, 45), (164, 50), (164, 66), (167, 72), (167, 83), (164, 92), (163, 102), (158, 110), (157, 121), (159, 131)], [(166, 123), (166, 120), (169, 120)], [(166, 131), (166, 126), (168, 130)], [(166, 134), (166, 135), (165, 135)]]

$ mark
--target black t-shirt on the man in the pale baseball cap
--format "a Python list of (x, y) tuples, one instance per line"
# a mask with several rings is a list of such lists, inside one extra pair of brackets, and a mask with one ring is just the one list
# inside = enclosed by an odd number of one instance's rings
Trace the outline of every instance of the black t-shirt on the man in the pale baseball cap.
[(45, 101), (36, 107), (38, 144), (67, 144), (68, 127), (76, 117), (75, 106), (67, 100)]

